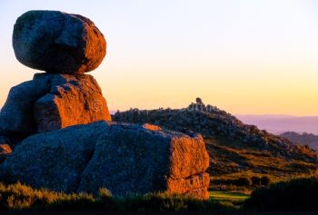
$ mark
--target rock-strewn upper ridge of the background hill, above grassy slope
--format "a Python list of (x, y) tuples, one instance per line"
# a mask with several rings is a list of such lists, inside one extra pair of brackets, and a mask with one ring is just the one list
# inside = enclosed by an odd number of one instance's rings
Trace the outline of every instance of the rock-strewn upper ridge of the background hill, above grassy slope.
[(199, 132), (204, 138), (220, 137), (228, 142), (241, 142), (246, 148), (272, 151), (276, 156), (317, 161), (316, 151), (295, 145), (293, 142), (259, 130), (255, 125), (244, 124), (234, 115), (207, 104), (201, 99), (183, 109), (138, 110), (116, 112), (116, 122), (154, 123), (178, 132)]

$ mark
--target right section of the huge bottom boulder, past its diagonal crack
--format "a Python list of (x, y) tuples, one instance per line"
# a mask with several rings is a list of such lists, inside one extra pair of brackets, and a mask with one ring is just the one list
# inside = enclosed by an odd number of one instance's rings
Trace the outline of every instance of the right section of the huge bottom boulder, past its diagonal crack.
[[(179, 132), (114, 124), (97, 141), (79, 191), (105, 187), (114, 195), (174, 192), (174, 186), (169, 187), (167, 181), (186, 179), (204, 172), (208, 166), (201, 135), (190, 138)], [(188, 189), (192, 189), (191, 185)]]

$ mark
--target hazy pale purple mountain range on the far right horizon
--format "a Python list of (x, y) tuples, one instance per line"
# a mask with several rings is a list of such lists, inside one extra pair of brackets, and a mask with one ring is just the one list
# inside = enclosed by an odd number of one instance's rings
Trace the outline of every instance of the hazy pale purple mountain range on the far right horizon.
[(318, 116), (297, 117), (292, 115), (235, 115), (245, 124), (281, 134), (283, 132), (308, 132), (318, 134)]

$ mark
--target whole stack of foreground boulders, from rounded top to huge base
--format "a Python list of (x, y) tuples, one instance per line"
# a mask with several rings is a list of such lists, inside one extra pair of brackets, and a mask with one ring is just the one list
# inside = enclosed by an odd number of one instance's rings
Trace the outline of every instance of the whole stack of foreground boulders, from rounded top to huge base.
[(13, 87), (0, 112), (1, 181), (65, 192), (96, 194), (104, 187), (120, 196), (209, 197), (209, 156), (200, 134), (111, 122), (98, 83), (84, 74), (106, 53), (92, 21), (30, 11), (17, 19), (13, 45), (22, 64), (46, 73)]

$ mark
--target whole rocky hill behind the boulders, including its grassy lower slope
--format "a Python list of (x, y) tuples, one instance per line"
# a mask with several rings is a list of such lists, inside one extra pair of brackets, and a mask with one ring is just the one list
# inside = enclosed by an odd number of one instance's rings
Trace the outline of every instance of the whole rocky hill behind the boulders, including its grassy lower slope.
[(202, 133), (210, 154), (212, 184), (264, 175), (281, 181), (317, 171), (313, 149), (244, 124), (200, 100), (183, 109), (130, 109), (112, 117), (116, 122), (148, 122), (178, 132)]

